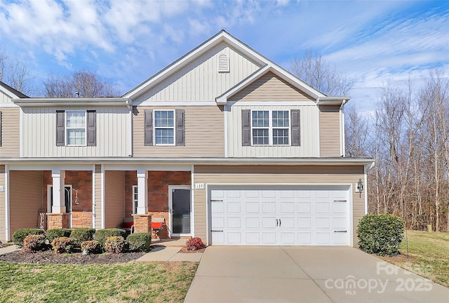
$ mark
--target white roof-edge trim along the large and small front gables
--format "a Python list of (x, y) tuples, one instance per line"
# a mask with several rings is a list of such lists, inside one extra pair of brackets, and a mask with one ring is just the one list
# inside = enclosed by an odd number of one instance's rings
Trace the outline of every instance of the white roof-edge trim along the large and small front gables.
[(230, 46), (236, 48), (237, 50), (240, 50), (242, 53), (245, 53), (249, 58), (255, 60), (256, 62), (260, 62), (260, 65), (262, 65), (262, 67), (257, 72), (251, 74), (246, 79), (236, 84), (236, 86), (229, 89), (226, 93), (218, 96), (216, 98), (217, 104), (225, 104), (227, 97), (233, 95), (241, 88), (248, 86), (250, 83), (258, 79), (260, 76), (263, 76), (267, 72), (273, 72), (294, 87), (302, 90), (307, 95), (315, 97), (316, 100), (319, 100), (320, 97), (326, 97), (326, 95), (321, 93), (319, 90), (316, 90), (315, 88), (309, 86), (309, 84), (305, 83), (290, 72), (286, 71), (286, 69), (283, 69), (279, 65), (276, 65), (276, 63), (265, 58), (263, 55), (260, 55), (260, 53), (257, 53), (255, 50), (253, 50), (253, 48), (250, 48), (245, 43), (241, 42), (239, 39), (236, 39), (225, 30), (222, 30), (219, 33), (215, 34), (215, 36), (203, 42), (201, 45), (197, 46), (189, 53), (173, 62), (171, 65), (168, 65), (168, 67), (166, 67), (165, 69), (162, 69), (160, 72), (154, 74), (154, 76), (150, 77), (140, 85), (128, 91), (128, 93), (123, 95), (123, 97), (134, 98), (142, 95), (142, 93), (149, 90), (149, 88), (152, 88), (152, 86), (168, 78), (170, 75), (177, 72), (177, 70), (189, 64), (189, 62), (192, 62), (203, 53), (206, 53), (206, 51), (208, 51), (210, 48), (213, 48), (213, 46), (216, 46), (217, 44), (222, 42), (225, 42)]

